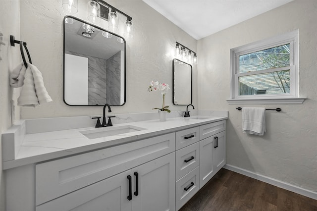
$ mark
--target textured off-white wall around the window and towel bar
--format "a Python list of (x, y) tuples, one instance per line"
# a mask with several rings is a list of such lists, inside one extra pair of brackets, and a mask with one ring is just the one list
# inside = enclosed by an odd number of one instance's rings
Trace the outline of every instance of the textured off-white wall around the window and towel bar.
[[(316, 20), (316, 0), (295, 0), (198, 41), (199, 109), (229, 111), (227, 164), (312, 191), (317, 191)], [(299, 93), (308, 99), (302, 105), (228, 105), (230, 49), (296, 29)], [(282, 112), (266, 112), (266, 133), (259, 137), (242, 133), (238, 106)]]

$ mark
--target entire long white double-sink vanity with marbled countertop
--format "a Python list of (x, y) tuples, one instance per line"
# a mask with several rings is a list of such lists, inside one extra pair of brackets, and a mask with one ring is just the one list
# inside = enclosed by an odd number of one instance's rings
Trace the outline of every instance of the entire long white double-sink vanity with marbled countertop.
[(71, 118), (65, 130), (45, 124), (66, 118), (22, 120), (2, 134), (8, 211), (177, 211), (225, 164), (226, 112), (106, 128)]

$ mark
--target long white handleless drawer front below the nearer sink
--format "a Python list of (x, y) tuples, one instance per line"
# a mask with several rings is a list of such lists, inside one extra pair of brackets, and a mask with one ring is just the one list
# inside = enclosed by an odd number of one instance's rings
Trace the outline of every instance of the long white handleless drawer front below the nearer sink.
[(175, 151), (175, 133), (36, 164), (36, 205)]

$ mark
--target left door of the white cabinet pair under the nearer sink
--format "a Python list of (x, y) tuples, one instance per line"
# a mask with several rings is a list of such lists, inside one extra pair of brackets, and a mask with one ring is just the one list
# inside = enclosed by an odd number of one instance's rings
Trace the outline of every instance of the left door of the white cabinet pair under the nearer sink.
[(37, 206), (36, 211), (131, 211), (131, 169)]

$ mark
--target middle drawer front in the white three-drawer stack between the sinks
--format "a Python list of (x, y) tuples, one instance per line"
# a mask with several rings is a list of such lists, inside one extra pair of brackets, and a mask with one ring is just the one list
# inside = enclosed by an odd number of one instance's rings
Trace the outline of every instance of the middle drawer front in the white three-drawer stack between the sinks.
[(199, 142), (176, 151), (176, 180), (199, 166)]

